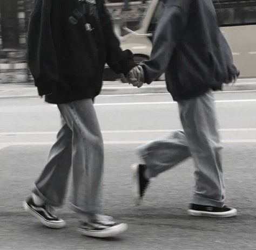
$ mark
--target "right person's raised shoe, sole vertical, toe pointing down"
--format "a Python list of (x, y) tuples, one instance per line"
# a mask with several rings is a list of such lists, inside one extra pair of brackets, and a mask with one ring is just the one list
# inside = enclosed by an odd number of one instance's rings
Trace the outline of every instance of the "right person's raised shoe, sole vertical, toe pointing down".
[(131, 165), (133, 192), (135, 196), (136, 205), (139, 205), (142, 202), (146, 189), (150, 183), (150, 179), (147, 179), (145, 177), (146, 169), (147, 166), (145, 164)]

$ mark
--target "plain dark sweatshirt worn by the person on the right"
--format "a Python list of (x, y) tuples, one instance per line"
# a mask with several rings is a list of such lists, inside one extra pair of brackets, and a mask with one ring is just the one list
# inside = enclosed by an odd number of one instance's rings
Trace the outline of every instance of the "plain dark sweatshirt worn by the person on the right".
[(151, 57), (142, 66), (148, 84), (165, 73), (176, 101), (221, 89), (239, 74), (211, 0), (166, 0)]

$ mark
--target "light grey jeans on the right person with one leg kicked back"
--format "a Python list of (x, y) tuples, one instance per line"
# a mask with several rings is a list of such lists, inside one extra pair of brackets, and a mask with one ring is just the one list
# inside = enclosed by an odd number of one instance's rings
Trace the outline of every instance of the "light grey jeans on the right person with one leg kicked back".
[(192, 156), (196, 186), (192, 203), (222, 207), (225, 199), (221, 144), (212, 92), (178, 102), (184, 131), (149, 142), (138, 148), (149, 167), (148, 175), (159, 173)]

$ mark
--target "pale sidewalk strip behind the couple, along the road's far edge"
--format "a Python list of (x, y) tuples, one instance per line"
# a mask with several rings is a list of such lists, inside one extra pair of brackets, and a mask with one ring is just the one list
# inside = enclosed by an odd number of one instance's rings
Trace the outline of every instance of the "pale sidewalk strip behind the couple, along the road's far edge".
[[(239, 79), (234, 85), (224, 85), (224, 91), (256, 90), (256, 79)], [(132, 87), (122, 82), (104, 82), (101, 95), (167, 93), (164, 81), (152, 82), (142, 88)], [(0, 84), (0, 99), (35, 98), (38, 96), (33, 84)]]

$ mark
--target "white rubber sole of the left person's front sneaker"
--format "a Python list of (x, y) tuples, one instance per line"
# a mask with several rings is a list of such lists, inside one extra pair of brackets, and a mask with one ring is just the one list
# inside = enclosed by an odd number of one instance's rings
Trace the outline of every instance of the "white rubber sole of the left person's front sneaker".
[(95, 237), (95, 238), (110, 238), (115, 237), (121, 233), (124, 233), (127, 230), (128, 226), (125, 223), (118, 224), (116, 226), (109, 227), (104, 231), (96, 231), (96, 230), (85, 230), (83, 228), (78, 228), (78, 232), (87, 237)]

